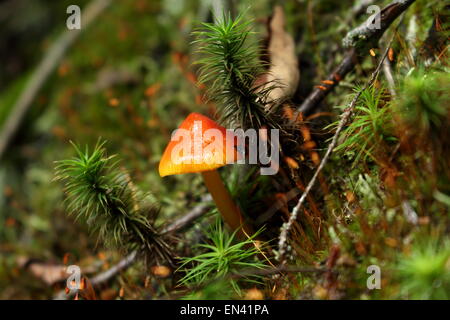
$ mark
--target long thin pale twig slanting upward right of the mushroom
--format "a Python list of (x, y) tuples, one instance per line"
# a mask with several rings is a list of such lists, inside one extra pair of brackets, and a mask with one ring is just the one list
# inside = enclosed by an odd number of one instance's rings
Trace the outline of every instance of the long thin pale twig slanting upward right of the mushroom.
[(288, 222), (284, 223), (283, 226), (281, 227), (281, 232), (280, 232), (280, 237), (279, 237), (279, 242), (278, 242), (278, 248), (279, 249), (278, 249), (277, 260), (280, 261), (282, 265), (286, 264), (285, 254), (286, 254), (286, 245), (287, 245), (287, 238), (288, 238), (289, 231), (292, 228), (292, 225), (294, 224), (294, 221), (297, 220), (298, 213), (300, 212), (300, 209), (301, 209), (303, 203), (305, 202), (306, 197), (308, 196), (308, 194), (311, 191), (312, 187), (316, 183), (316, 180), (317, 180), (317, 177), (319, 176), (319, 173), (322, 171), (323, 167), (325, 166), (325, 164), (327, 163), (328, 159), (330, 158), (330, 155), (333, 152), (334, 148), (337, 146), (339, 134), (341, 133), (342, 129), (347, 124), (347, 122), (350, 120), (350, 117), (353, 114), (356, 102), (358, 101), (358, 99), (361, 96), (361, 94), (368, 87), (370, 87), (373, 84), (373, 82), (375, 81), (378, 73), (380, 72), (381, 66), (383, 65), (383, 61), (385, 60), (385, 58), (386, 58), (386, 56), (387, 56), (387, 54), (389, 52), (389, 48), (390, 48), (393, 40), (394, 40), (394, 36), (392, 36), (391, 40), (389, 41), (389, 44), (388, 44), (388, 46), (387, 46), (387, 48), (386, 48), (382, 58), (380, 59), (380, 62), (378, 63), (377, 68), (372, 73), (369, 81), (366, 82), (364, 87), (360, 91), (358, 91), (358, 93), (353, 97), (353, 100), (350, 102), (349, 106), (345, 109), (344, 113), (341, 115), (341, 120), (339, 122), (339, 125), (338, 125), (338, 127), (336, 129), (336, 132), (334, 133), (333, 139), (332, 139), (331, 143), (329, 144), (324, 157), (322, 158), (322, 161), (319, 164), (319, 167), (317, 168), (317, 170), (314, 173), (313, 177), (309, 181), (308, 186), (306, 187), (305, 191), (303, 192), (302, 196), (300, 197), (297, 205), (292, 210), (292, 213), (291, 213), (291, 216), (289, 217)]

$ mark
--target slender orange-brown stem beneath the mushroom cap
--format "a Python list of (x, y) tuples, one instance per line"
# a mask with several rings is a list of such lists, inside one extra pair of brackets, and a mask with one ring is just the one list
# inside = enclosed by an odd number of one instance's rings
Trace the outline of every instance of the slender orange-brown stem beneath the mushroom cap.
[[(244, 218), (239, 210), (239, 207), (234, 203), (230, 193), (225, 187), (220, 174), (217, 170), (203, 171), (203, 179), (206, 187), (211, 193), (217, 209), (222, 214), (223, 220), (233, 229), (236, 230), (242, 227), (241, 235), (252, 235), (251, 228), (244, 223)], [(243, 232), (242, 232), (243, 231)]]

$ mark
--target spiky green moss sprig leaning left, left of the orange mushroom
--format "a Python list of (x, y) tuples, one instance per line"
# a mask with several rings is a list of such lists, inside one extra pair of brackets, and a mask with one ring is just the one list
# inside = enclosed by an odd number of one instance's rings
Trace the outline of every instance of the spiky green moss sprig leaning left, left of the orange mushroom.
[(169, 246), (153, 225), (159, 209), (117, 167), (115, 156), (106, 155), (104, 144), (98, 142), (92, 152), (73, 144), (77, 156), (57, 162), (56, 179), (65, 182), (69, 212), (108, 245), (170, 261)]

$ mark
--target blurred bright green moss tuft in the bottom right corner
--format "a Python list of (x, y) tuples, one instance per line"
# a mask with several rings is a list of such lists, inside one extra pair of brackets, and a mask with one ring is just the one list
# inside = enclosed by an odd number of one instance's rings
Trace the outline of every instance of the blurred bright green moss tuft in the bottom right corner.
[(421, 241), (399, 257), (396, 276), (410, 299), (450, 299), (450, 241)]

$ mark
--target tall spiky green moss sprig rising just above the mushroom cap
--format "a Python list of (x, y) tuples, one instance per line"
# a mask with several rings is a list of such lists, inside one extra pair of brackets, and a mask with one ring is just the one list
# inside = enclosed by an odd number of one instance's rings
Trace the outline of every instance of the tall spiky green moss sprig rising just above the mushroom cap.
[(255, 85), (263, 71), (259, 61), (259, 46), (251, 39), (250, 25), (240, 15), (235, 20), (224, 15), (216, 23), (202, 23), (204, 30), (194, 32), (203, 57), (200, 64), (200, 82), (209, 86), (208, 95), (217, 103), (226, 125), (260, 128), (278, 127), (273, 114), (265, 110), (266, 96), (274, 86), (262, 89), (265, 83)]

